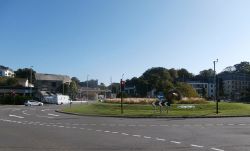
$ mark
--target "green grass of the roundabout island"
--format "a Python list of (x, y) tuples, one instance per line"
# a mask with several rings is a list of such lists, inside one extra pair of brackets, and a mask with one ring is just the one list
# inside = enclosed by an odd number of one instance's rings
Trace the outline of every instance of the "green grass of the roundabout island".
[[(194, 109), (180, 109), (179, 105), (172, 105), (167, 113), (164, 108), (160, 113), (159, 108), (155, 111), (152, 105), (124, 104), (124, 113), (121, 114), (120, 104), (93, 103), (84, 105), (72, 105), (62, 111), (77, 113), (81, 115), (100, 116), (129, 116), (129, 117), (192, 117), (192, 116), (217, 116), (215, 114), (215, 103), (197, 104)], [(243, 103), (219, 103), (218, 116), (248, 116), (250, 105)]]

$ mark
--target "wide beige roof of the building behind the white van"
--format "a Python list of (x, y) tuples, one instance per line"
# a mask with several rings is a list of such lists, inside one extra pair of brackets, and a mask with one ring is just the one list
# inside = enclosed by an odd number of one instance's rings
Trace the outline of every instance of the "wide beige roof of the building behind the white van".
[(71, 82), (70, 77), (67, 75), (36, 73), (35, 77), (37, 81), (63, 81), (63, 83)]

